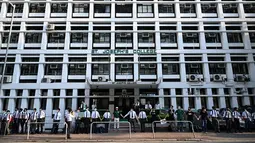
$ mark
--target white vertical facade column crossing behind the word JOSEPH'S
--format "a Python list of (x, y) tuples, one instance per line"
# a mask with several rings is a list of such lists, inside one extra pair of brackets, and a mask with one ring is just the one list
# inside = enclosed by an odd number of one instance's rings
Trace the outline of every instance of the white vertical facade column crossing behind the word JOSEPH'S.
[[(115, 5), (114, 3), (112, 4), (112, 6)], [(115, 14), (114, 14), (115, 15)], [(115, 23), (111, 22), (111, 31), (115, 31)], [(111, 50), (115, 49), (115, 33), (111, 33)], [(115, 81), (115, 55), (114, 54), (110, 54), (110, 79), (111, 81)]]

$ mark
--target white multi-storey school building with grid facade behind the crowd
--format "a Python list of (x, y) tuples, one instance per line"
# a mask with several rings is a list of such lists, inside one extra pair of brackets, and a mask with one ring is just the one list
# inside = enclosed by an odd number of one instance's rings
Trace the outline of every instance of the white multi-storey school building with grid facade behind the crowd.
[[(0, 110), (255, 103), (254, 1), (12, 3)], [(0, 6), (2, 71), (12, 6)]]

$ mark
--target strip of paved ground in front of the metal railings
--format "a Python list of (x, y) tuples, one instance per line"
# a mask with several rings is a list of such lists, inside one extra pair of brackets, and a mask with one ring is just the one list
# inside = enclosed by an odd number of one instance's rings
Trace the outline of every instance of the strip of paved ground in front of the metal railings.
[(191, 133), (156, 133), (153, 139), (152, 133), (133, 133), (129, 139), (128, 133), (112, 132), (109, 134), (93, 134), (93, 138), (89, 139), (87, 134), (72, 134), (72, 139), (65, 140), (64, 134), (36, 134), (31, 135), (26, 140), (26, 135), (8, 135), (1, 136), (0, 142), (113, 142), (113, 143), (169, 143), (169, 142), (254, 142), (255, 133), (235, 133), (235, 134), (215, 134), (215, 133), (196, 133), (196, 138)]

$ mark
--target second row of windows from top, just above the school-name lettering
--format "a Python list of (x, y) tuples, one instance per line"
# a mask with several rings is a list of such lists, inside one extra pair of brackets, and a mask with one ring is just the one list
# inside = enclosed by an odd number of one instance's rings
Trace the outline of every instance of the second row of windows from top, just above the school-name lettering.
[[(198, 33), (183, 33), (183, 43), (199, 43)], [(206, 43), (221, 43), (220, 33), (205, 33)], [(93, 36), (94, 43), (110, 43), (110, 33), (95, 33)], [(116, 43), (132, 43), (133, 36), (131, 33), (117, 33)], [(241, 33), (227, 33), (229, 43), (242, 43)], [(19, 34), (12, 33), (10, 43), (18, 43)], [(26, 43), (41, 43), (42, 34), (40, 33), (27, 33), (25, 35)], [(85, 33), (73, 33), (71, 34), (71, 43), (87, 43), (88, 35)], [(251, 42), (255, 42), (255, 33), (250, 33)], [(8, 33), (3, 34), (2, 43), (8, 42)], [(65, 33), (50, 33), (48, 34), (48, 43), (64, 43)], [(139, 33), (138, 43), (154, 43), (155, 36), (152, 33)], [(161, 33), (161, 43), (176, 43), (177, 35), (174, 33)]]

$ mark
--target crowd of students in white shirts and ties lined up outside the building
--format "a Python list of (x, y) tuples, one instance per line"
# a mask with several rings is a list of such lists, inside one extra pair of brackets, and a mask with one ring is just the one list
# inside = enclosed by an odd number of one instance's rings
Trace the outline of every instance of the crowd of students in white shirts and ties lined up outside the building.
[[(157, 109), (160, 108), (159, 105), (155, 105), (154, 107)], [(68, 108), (65, 115), (63, 116), (60, 112), (60, 109), (57, 109), (57, 111), (54, 113), (54, 116), (52, 116), (53, 126), (51, 132), (58, 133), (59, 123), (62, 118), (64, 118), (67, 125), (68, 138), (70, 138), (71, 131), (73, 131), (73, 133), (89, 133), (90, 124), (93, 122), (93, 133), (107, 133), (109, 129), (109, 123), (105, 122), (109, 121), (114, 122), (114, 130), (118, 131), (121, 117), (128, 118), (133, 132), (136, 132), (137, 128), (140, 128), (141, 132), (145, 132), (145, 123), (148, 121), (148, 116), (150, 116), (150, 123), (153, 123), (153, 121), (165, 120), (179, 121), (177, 123), (177, 130), (179, 132), (182, 132), (184, 129), (184, 122), (181, 121), (190, 121), (193, 123), (194, 120), (199, 120), (201, 122), (202, 131), (205, 133), (207, 132), (208, 121), (212, 122), (215, 132), (220, 132), (220, 118), (225, 120), (227, 132), (242, 132), (240, 128), (240, 120), (245, 121), (246, 131), (251, 131), (252, 124), (255, 125), (255, 113), (251, 114), (246, 109), (243, 112), (239, 112), (238, 108), (234, 108), (234, 111), (232, 112), (229, 108), (226, 108), (224, 113), (220, 114), (215, 107), (212, 107), (210, 112), (207, 112), (206, 108), (203, 107), (201, 112), (196, 114), (191, 110), (191, 108), (189, 108), (188, 111), (184, 111), (181, 107), (178, 107), (175, 111), (173, 106), (171, 106), (168, 110), (167, 116), (160, 117), (156, 113), (155, 108), (153, 108), (150, 103), (147, 103), (144, 106), (135, 104), (134, 107), (131, 108), (130, 111), (125, 115), (122, 115), (118, 107), (115, 108), (113, 113), (110, 113), (109, 110), (106, 110), (103, 115), (100, 115), (96, 109), (96, 106), (94, 105), (92, 111), (90, 111), (86, 106), (83, 106), (75, 111), (72, 111), (70, 108)], [(85, 111), (80, 112), (80, 109)], [(27, 133), (28, 122), (32, 122), (32, 124), (30, 124), (30, 132), (32, 134), (42, 133), (44, 131), (45, 117), (46, 114), (42, 109), (37, 111), (37, 109), (34, 108), (32, 113), (28, 113), (26, 108), (16, 108), (13, 113), (10, 113), (9, 110), (4, 110), (2, 114), (0, 114), (0, 133)], [(100, 121), (105, 122), (99, 123)], [(137, 126), (137, 123), (140, 127)], [(156, 129), (156, 123), (154, 124), (154, 127)], [(189, 124), (189, 129), (191, 130), (191, 124)]]

